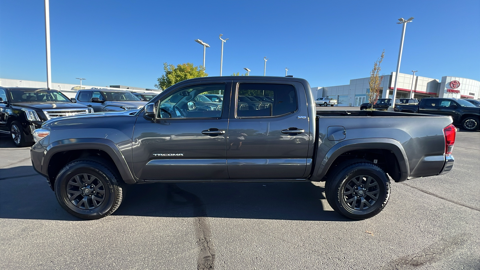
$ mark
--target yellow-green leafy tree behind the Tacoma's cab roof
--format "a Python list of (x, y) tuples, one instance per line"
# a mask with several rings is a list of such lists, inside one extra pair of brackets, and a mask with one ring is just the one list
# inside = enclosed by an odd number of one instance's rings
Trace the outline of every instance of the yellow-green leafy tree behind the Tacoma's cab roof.
[(183, 63), (177, 66), (163, 63), (163, 71), (165, 74), (157, 78), (157, 84), (155, 84), (155, 87), (160, 90), (165, 90), (183, 80), (208, 76), (203, 66), (194, 66), (193, 63)]

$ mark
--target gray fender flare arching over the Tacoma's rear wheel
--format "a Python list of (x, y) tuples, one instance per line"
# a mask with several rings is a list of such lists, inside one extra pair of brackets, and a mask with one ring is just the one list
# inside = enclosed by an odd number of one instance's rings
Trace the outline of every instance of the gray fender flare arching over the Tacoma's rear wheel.
[(408, 176), (410, 175), (410, 167), (408, 165), (408, 158), (405, 149), (400, 142), (391, 138), (362, 138), (341, 141), (330, 148), (330, 150), (324, 155), (323, 159), (320, 156), (318, 157), (317, 163), (320, 164), (316, 166), (313, 176), (316, 179), (324, 178), (332, 163), (341, 154), (361, 149), (386, 149), (393, 152), (398, 160), (398, 165), (400, 166), (400, 179), (397, 182), (402, 182), (408, 179)]

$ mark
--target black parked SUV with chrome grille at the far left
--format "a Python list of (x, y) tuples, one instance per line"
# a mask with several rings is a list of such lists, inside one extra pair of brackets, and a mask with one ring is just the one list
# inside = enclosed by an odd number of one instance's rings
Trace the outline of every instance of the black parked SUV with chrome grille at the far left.
[(34, 130), (50, 118), (93, 112), (57, 90), (0, 87), (0, 133), (11, 134), (17, 147), (34, 143)]

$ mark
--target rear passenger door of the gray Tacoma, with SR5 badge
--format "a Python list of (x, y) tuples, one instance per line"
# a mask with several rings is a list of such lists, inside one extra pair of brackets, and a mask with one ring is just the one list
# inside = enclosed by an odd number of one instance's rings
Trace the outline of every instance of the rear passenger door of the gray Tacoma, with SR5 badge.
[[(301, 84), (234, 83), (228, 124), (228, 175), (239, 179), (300, 179), (309, 149), (309, 119)], [(273, 97), (265, 108), (239, 110), (242, 96)], [(236, 110), (233, 110), (236, 108)], [(311, 119), (310, 121), (315, 121)]]

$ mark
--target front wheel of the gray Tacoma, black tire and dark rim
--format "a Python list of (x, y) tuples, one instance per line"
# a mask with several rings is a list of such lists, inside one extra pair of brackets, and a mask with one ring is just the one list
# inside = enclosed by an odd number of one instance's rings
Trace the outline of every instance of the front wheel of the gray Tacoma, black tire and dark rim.
[(95, 220), (119, 208), (122, 184), (117, 170), (101, 160), (74, 160), (58, 173), (55, 195), (60, 206), (72, 215)]

